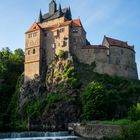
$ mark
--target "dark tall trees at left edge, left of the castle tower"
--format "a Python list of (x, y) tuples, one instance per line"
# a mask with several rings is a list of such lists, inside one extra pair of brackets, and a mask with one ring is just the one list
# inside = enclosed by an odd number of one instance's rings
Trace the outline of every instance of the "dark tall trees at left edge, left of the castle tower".
[(8, 47), (0, 51), (0, 81), (2, 80), (0, 83), (0, 122), (2, 122), (0, 129), (3, 130), (7, 128), (7, 123), (10, 121), (7, 109), (15, 92), (17, 79), (23, 72), (23, 54), (21, 49), (12, 53)]

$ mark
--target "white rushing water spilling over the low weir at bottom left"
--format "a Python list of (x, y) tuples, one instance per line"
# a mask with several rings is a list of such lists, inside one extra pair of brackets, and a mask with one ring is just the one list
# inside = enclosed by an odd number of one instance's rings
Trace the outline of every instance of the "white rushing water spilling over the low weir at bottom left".
[(21, 132), (0, 133), (2, 140), (79, 140), (74, 132)]

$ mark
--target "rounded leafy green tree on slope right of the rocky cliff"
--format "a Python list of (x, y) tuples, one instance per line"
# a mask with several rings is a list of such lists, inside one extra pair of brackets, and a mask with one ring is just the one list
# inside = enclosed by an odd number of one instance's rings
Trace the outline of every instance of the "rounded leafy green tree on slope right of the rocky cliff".
[(83, 114), (85, 120), (103, 119), (105, 90), (102, 84), (97, 82), (89, 83), (81, 93)]

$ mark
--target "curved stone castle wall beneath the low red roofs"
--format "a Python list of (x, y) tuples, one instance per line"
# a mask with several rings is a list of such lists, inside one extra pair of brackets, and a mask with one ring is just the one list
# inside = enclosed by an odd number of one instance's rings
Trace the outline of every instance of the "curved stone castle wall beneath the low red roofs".
[(94, 72), (138, 79), (135, 51), (129, 48), (110, 46), (109, 48), (85, 47), (76, 53), (82, 63), (96, 63)]

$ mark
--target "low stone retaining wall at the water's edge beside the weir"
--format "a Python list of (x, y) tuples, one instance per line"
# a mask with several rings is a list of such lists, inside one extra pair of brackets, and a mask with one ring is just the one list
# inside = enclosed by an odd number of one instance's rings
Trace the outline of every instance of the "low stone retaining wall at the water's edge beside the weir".
[(121, 127), (118, 125), (69, 124), (69, 129), (87, 139), (100, 140), (103, 137), (121, 136)]

